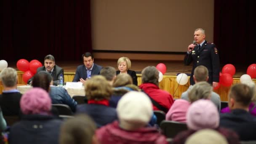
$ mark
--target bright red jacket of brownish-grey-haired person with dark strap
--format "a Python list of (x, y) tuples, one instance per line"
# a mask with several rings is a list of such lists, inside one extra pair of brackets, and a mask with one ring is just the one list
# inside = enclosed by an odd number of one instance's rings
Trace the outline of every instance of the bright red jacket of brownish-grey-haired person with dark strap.
[[(161, 90), (157, 85), (153, 83), (143, 83), (139, 88), (143, 89), (145, 93), (166, 109), (170, 109), (173, 105), (173, 96), (167, 91)], [(153, 106), (153, 109), (160, 110), (155, 106)]]

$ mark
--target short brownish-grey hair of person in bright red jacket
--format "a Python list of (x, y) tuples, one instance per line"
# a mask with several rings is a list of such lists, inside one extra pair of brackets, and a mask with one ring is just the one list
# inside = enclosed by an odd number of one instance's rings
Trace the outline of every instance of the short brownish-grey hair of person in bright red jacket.
[(148, 66), (141, 72), (142, 83), (153, 83), (158, 86), (159, 71), (154, 66)]

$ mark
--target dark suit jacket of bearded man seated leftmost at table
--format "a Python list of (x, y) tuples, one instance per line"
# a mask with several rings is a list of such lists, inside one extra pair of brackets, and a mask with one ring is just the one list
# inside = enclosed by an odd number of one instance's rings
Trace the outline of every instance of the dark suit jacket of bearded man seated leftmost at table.
[[(40, 72), (40, 71), (45, 71), (45, 66), (43, 67), (38, 67), (37, 68), (37, 72)], [(51, 73), (51, 76), (53, 77), (53, 85), (58, 85), (58, 80), (59, 80), (59, 77), (62, 75), (63, 77), (63, 82), (64, 82), (64, 71), (61, 67), (57, 66), (55, 64), (54, 68), (53, 68), (53, 72)], [(33, 80), (33, 77), (30, 78), (28, 81), (27, 81), (27, 84), (29, 84), (31, 81)]]

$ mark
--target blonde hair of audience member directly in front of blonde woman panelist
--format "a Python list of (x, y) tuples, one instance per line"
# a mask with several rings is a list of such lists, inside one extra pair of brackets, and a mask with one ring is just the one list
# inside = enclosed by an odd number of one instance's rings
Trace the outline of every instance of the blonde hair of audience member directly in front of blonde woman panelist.
[(131, 75), (122, 73), (117, 75), (117, 77), (115, 78), (113, 82), (113, 87), (120, 87), (120, 86), (129, 85), (129, 84), (133, 84)]

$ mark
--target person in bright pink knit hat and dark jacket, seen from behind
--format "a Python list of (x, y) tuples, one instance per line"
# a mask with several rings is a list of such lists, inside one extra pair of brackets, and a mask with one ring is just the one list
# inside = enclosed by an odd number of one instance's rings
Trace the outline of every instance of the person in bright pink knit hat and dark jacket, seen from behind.
[(41, 88), (32, 88), (20, 101), (22, 120), (11, 126), (9, 144), (59, 144), (61, 120), (51, 114), (51, 99)]

